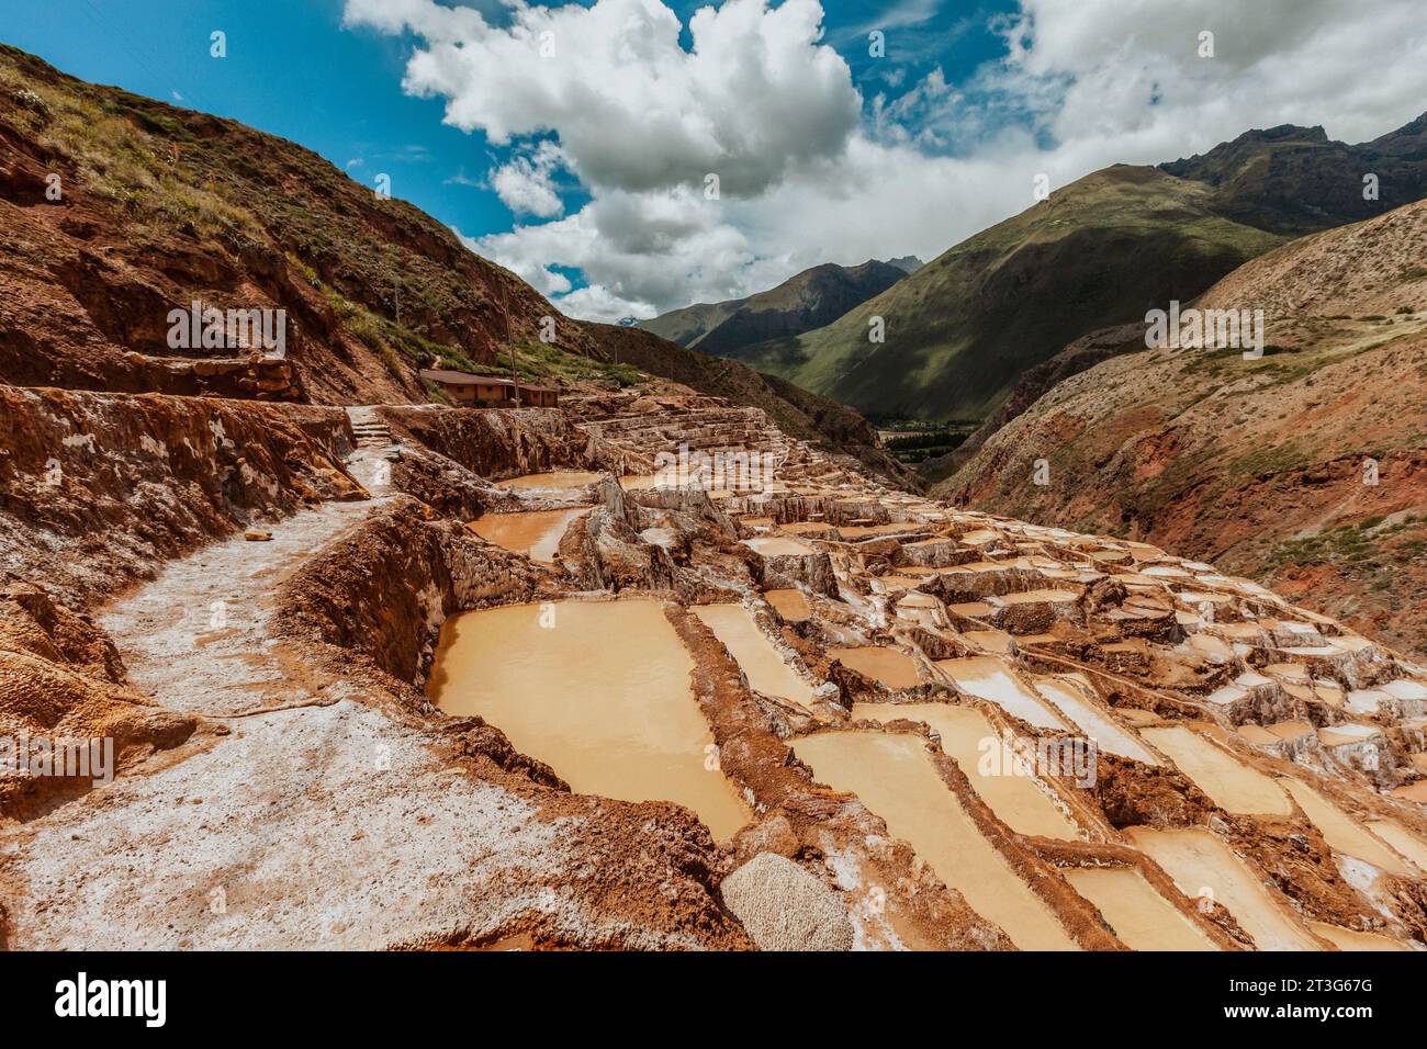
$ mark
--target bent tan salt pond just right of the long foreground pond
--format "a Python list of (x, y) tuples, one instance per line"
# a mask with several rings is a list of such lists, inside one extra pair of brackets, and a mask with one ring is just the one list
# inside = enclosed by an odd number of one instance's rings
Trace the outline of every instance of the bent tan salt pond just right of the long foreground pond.
[[(925, 721), (942, 736), (942, 749), (972, 781), (972, 789), (1006, 826), (1016, 833), (1069, 841), (1079, 838), (1075, 824), (1056, 808), (1035, 778), (1017, 772), (1010, 748), (980, 711), (950, 704), (853, 704), (852, 718)], [(995, 755), (990, 755), (992, 749)]]

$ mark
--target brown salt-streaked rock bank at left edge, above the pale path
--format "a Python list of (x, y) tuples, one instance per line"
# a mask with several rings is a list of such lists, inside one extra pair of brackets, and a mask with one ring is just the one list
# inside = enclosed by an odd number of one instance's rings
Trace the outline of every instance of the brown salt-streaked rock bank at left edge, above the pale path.
[(0, 568), (93, 604), (257, 520), (365, 495), (337, 408), (0, 385)]

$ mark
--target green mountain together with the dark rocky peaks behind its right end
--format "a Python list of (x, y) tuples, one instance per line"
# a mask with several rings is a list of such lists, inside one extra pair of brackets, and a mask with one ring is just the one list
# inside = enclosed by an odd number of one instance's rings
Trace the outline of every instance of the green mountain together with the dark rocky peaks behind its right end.
[[(1249, 131), (1157, 168), (1096, 171), (838, 321), (729, 355), (875, 418), (983, 420), (1076, 338), (1187, 301), (1289, 237), (1424, 196), (1427, 117), (1360, 146), (1323, 128)], [(869, 341), (873, 317), (883, 344)]]

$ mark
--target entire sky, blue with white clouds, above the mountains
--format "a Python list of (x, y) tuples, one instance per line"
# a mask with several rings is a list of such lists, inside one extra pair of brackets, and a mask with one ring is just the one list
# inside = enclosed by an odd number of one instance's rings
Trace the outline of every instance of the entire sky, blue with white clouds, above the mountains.
[[(362, 183), (385, 173), (598, 320), (823, 261), (930, 260), (1033, 206), (1042, 178), (1283, 123), (1361, 141), (1427, 100), (1420, 0), (465, 4), (0, 0), (0, 40), (291, 138)], [(1213, 60), (1196, 56), (1206, 29)], [(547, 31), (558, 47), (537, 57)]]

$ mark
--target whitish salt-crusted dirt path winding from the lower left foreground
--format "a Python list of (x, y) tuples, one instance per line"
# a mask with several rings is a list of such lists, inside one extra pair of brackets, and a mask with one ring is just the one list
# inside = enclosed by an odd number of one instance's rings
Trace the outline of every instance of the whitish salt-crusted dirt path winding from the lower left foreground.
[(420, 729), (342, 685), (313, 692), (284, 662), (268, 631), (275, 584), (380, 504), (328, 504), (270, 542), (208, 547), (103, 614), (138, 688), (211, 721), (0, 832), (10, 946), (380, 948), (532, 911), (572, 935), (598, 923), (559, 888), (579, 862), (565, 819), (444, 765)]

